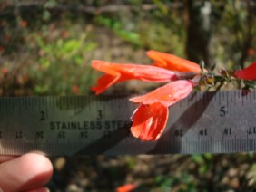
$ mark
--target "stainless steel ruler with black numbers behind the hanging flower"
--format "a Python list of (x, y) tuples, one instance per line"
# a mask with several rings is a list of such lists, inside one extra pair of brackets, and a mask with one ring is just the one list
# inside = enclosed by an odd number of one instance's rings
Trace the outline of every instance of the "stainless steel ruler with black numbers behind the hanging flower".
[(129, 96), (0, 98), (0, 154), (196, 154), (256, 151), (256, 91), (193, 92), (169, 108), (161, 139), (130, 134)]

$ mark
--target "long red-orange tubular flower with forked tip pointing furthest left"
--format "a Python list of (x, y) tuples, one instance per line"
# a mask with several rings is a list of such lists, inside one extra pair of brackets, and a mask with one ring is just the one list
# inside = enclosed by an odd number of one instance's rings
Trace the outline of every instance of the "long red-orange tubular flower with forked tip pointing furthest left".
[(92, 88), (96, 94), (100, 94), (116, 82), (127, 80), (141, 80), (144, 82), (170, 82), (177, 80), (175, 72), (150, 65), (117, 64), (103, 61), (93, 61), (94, 69), (105, 72)]

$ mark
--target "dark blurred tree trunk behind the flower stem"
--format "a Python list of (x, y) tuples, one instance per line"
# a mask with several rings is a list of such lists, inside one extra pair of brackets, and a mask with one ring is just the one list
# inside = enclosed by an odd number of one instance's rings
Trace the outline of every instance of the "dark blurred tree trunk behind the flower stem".
[(193, 62), (209, 66), (209, 43), (211, 37), (211, 3), (186, 0), (187, 57)]

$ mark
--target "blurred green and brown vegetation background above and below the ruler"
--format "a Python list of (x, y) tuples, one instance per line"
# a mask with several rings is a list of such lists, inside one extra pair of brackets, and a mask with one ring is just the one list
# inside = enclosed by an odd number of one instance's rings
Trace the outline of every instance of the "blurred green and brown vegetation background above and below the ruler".
[[(173, 53), (215, 71), (256, 61), (255, 0), (1, 0), (0, 96), (93, 94), (93, 59)], [(107, 94), (143, 92), (122, 83)], [(254, 153), (54, 157), (52, 191), (253, 191)]]

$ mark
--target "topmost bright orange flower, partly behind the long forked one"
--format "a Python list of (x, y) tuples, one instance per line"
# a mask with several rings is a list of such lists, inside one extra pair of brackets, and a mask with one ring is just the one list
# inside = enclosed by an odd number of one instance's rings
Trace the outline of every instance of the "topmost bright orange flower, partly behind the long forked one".
[(176, 72), (201, 72), (200, 66), (195, 62), (190, 62), (173, 54), (148, 51), (147, 55), (153, 61), (154, 66), (162, 67)]

